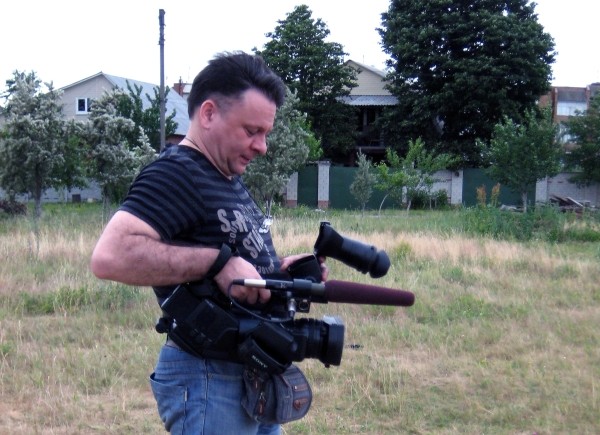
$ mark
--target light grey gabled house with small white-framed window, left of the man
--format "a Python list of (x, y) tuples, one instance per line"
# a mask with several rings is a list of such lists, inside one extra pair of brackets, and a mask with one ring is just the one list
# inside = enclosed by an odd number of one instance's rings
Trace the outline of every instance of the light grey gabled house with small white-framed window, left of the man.
[[(158, 85), (99, 72), (91, 77), (61, 88), (63, 92), (63, 114), (68, 119), (84, 119), (89, 115), (94, 100), (100, 98), (104, 92), (114, 88), (119, 88), (127, 92), (128, 83), (132, 88), (135, 86), (142, 88), (141, 96), (144, 109), (148, 108), (150, 102), (145, 95), (154, 97), (154, 89)], [(175, 134), (167, 137), (166, 141), (179, 143), (185, 136), (189, 126), (187, 100), (173, 89), (169, 90), (166, 100), (165, 115), (169, 116), (175, 110), (174, 121), (177, 123)]]

